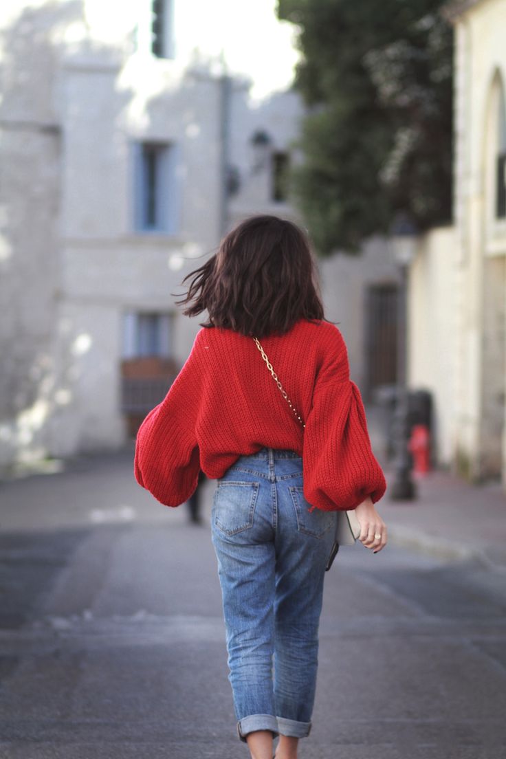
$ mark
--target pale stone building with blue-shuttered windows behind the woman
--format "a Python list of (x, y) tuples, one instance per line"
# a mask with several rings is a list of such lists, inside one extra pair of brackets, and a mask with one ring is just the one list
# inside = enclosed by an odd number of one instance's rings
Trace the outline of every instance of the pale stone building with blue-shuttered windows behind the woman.
[[(185, 273), (245, 216), (297, 221), (298, 96), (251, 102), (182, 2), (0, 7), (0, 467), (123, 445), (199, 329), (174, 304)], [(322, 275), (367, 383), (363, 282), (395, 287), (385, 245)]]

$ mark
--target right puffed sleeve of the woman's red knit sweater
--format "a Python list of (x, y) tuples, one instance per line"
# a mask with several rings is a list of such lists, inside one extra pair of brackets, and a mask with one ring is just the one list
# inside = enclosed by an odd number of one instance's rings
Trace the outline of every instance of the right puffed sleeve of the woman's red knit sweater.
[(367, 496), (382, 498), (386, 481), (372, 453), (360, 390), (350, 379), (344, 339), (334, 326), (330, 336), (306, 419), (304, 496), (313, 508), (350, 510)]

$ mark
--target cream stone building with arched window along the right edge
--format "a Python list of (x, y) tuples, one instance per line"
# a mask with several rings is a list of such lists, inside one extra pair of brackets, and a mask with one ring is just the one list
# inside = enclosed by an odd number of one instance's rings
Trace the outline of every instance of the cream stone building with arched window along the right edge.
[(442, 460), (506, 487), (506, 0), (451, 3), (454, 225), (410, 271), (411, 383), (429, 385)]

